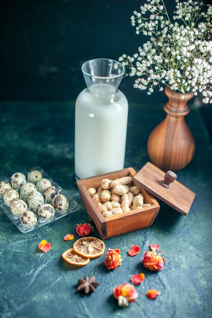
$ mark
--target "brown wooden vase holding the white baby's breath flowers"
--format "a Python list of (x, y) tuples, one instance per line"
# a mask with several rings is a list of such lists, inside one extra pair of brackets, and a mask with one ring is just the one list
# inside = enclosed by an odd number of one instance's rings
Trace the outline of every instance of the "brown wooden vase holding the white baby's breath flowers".
[(195, 151), (194, 137), (184, 116), (190, 109), (187, 102), (193, 98), (193, 92), (184, 94), (165, 88), (168, 103), (164, 106), (166, 118), (152, 131), (147, 142), (150, 160), (162, 170), (178, 171), (192, 160)]

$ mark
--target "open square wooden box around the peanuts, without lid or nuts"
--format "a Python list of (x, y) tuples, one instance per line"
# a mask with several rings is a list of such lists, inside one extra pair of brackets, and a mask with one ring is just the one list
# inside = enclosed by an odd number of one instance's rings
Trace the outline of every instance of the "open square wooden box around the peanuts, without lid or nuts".
[(92, 200), (92, 197), (87, 192), (89, 187), (98, 188), (101, 185), (102, 179), (114, 180), (121, 177), (134, 177), (136, 172), (133, 168), (126, 168), (110, 173), (101, 174), (95, 177), (77, 180), (78, 190), (90, 218), (93, 219), (97, 230), (102, 239), (108, 239), (114, 236), (126, 234), (139, 229), (150, 227), (160, 209), (160, 206), (152, 194), (147, 192), (140, 184), (133, 180), (132, 184), (140, 188), (140, 192), (144, 196), (144, 203), (151, 204), (142, 209), (137, 209), (132, 212), (125, 212), (110, 217), (104, 218), (98, 207)]

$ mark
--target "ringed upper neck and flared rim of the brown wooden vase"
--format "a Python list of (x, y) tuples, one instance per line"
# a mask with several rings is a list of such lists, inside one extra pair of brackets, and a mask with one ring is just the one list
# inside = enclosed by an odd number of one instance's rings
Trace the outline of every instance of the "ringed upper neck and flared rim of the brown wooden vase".
[(188, 92), (185, 94), (177, 93), (167, 86), (165, 88), (165, 94), (169, 101), (165, 104), (164, 110), (168, 115), (172, 117), (184, 117), (190, 112), (187, 102), (193, 98), (193, 92)]

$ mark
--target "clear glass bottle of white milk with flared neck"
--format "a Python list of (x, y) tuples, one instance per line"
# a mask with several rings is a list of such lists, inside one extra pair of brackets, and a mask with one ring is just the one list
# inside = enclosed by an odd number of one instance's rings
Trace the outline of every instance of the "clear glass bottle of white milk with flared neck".
[(75, 108), (75, 174), (86, 178), (124, 168), (128, 101), (118, 85), (124, 66), (93, 59), (82, 66), (87, 88)]

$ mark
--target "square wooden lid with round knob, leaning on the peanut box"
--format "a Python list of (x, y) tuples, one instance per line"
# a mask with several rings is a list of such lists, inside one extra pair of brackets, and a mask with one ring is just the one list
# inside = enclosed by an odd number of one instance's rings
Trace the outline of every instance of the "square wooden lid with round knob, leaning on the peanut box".
[(183, 215), (189, 213), (196, 194), (176, 179), (172, 171), (166, 173), (151, 163), (134, 176), (133, 180)]

